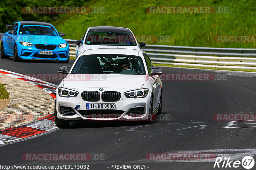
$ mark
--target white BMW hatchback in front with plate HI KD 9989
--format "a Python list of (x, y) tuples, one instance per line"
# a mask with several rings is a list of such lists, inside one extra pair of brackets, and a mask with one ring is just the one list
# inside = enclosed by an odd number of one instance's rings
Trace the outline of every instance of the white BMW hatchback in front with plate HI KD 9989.
[(81, 53), (56, 90), (55, 123), (85, 120), (152, 121), (162, 110), (162, 69), (134, 49), (91, 49)]

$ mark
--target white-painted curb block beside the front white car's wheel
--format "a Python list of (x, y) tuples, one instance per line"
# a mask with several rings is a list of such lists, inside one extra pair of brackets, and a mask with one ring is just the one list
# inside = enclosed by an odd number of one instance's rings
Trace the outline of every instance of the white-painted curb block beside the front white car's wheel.
[(52, 129), (56, 129), (57, 126), (55, 124), (55, 121), (53, 120), (48, 120), (48, 119), (41, 119), (41, 120), (36, 120), (34, 122), (30, 122), (25, 124), (27, 127), (31, 128), (36, 128), (36, 129), (41, 129), (44, 131), (50, 131)]

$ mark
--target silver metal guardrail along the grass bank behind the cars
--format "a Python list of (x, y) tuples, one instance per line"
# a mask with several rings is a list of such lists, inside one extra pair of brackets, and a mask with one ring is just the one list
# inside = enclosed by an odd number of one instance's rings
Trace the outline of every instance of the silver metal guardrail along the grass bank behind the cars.
[[(4, 33), (0, 33), (0, 36)], [(75, 57), (76, 39), (65, 39), (69, 44), (70, 56)], [(201, 67), (209, 65), (227, 66), (230, 68), (250, 67), (256, 70), (256, 49), (254, 48), (212, 48), (212, 47), (191, 47), (191, 46), (162, 46), (146, 45), (142, 48), (148, 53), (153, 63), (173, 63), (191, 66), (198, 64)], [(184, 55), (187, 54), (187, 55)], [(232, 56), (232, 57), (223, 57)], [(246, 58), (247, 57), (247, 58)], [(203, 65), (205, 66), (203, 66)]]

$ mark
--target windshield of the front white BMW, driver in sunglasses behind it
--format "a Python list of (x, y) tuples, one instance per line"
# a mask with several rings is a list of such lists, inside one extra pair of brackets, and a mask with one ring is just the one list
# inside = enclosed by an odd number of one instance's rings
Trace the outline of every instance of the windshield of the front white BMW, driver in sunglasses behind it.
[(99, 54), (81, 56), (71, 74), (146, 74), (142, 59), (133, 55)]

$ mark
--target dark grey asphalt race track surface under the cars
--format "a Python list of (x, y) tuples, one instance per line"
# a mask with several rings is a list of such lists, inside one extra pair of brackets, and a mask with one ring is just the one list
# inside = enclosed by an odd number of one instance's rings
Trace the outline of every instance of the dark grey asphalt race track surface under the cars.
[[(57, 74), (60, 66), (72, 65), (73, 62), (13, 62), (1, 59), (0, 68), (20, 74)], [(165, 74), (209, 74), (221, 80), (164, 80), (163, 113), (157, 115), (154, 123), (74, 122), (68, 129), (58, 128), (0, 145), (1, 165), (89, 165), (89, 169), (145, 165), (145, 169), (197, 170), (213, 169), (215, 160), (148, 160), (146, 155), (199, 152), (232, 156), (233, 160), (242, 160), (244, 156), (255, 158), (254, 121), (250, 124), (248, 121), (216, 121), (213, 115), (255, 113), (256, 73), (161, 68)], [(60, 81), (49, 82), (58, 84)], [(91, 153), (93, 160), (23, 160), (22, 155), (26, 153)], [(100, 154), (104, 158), (95, 160)], [(244, 168), (240, 165), (236, 169)]]

